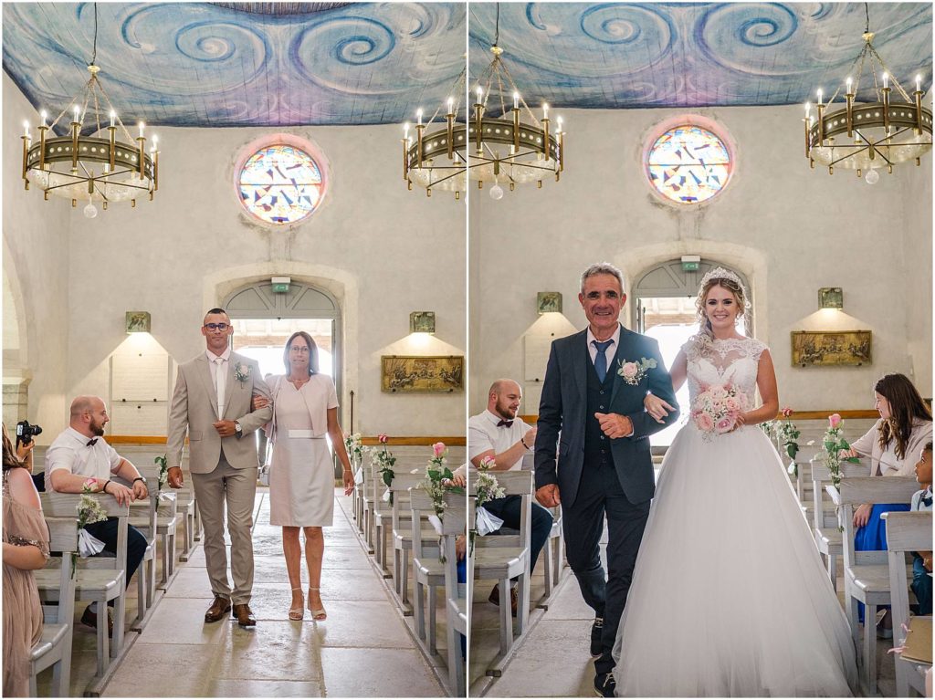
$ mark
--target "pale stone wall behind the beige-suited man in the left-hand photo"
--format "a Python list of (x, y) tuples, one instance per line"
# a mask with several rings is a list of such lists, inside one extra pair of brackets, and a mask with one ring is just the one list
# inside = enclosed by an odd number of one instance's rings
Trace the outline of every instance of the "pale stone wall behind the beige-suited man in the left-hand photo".
[[(18, 143), (16, 130), (35, 111), (7, 76), (4, 98), (5, 143)], [(464, 205), (407, 191), (396, 126), (296, 128), (289, 134), (324, 154), (330, 185), (310, 220), (271, 230), (243, 211), (233, 184), (243, 148), (271, 131), (151, 128), (161, 147), (155, 200), (110, 207), (94, 220), (23, 193), (19, 154), (7, 151), (4, 268), (15, 269), (33, 324), (25, 362), (36, 376), (30, 416), (43, 421), (43, 438), (65, 426), (66, 397), (108, 395), (108, 358), (127, 337), (125, 311), (149, 311), (153, 338), (183, 362), (204, 349), (206, 309), (274, 274), (338, 298), (345, 427), (353, 391), (356, 431), (463, 435), (464, 393), (381, 393), (380, 356), (465, 354)], [(413, 310), (436, 312), (434, 337), (409, 337)]]

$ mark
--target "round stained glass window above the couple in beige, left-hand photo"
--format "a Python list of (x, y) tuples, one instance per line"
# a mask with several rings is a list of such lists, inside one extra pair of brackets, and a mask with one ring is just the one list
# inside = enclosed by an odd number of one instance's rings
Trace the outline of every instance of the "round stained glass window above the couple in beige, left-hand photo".
[(262, 221), (295, 223), (318, 207), (322, 172), (304, 150), (285, 144), (258, 150), (240, 170), (240, 202)]

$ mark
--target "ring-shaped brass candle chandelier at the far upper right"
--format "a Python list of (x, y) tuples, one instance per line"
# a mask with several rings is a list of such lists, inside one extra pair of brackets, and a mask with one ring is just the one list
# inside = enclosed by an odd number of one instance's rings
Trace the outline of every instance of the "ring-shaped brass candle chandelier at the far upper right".
[[(932, 147), (932, 112), (922, 105), (922, 78), (915, 76), (915, 91), (910, 97), (899, 81), (886, 67), (883, 58), (873, 48), (873, 33), (870, 32), (870, 11), (863, 33), (864, 46), (857, 55), (856, 79), (848, 77), (841, 86), (844, 89), (843, 103), (835, 103), (841, 87), (823, 102), (823, 92), (817, 91), (818, 101), (814, 106), (805, 103), (805, 156), (814, 168), (815, 164), (827, 165), (828, 174), (835, 167), (855, 170), (857, 177), (863, 175), (868, 184), (880, 179), (878, 170), (893, 172), (893, 165), (921, 158)], [(856, 93), (865, 66), (869, 64), (876, 101), (856, 103)], [(882, 79), (882, 87), (878, 81)], [(893, 101), (891, 93), (896, 87), (901, 101)]]

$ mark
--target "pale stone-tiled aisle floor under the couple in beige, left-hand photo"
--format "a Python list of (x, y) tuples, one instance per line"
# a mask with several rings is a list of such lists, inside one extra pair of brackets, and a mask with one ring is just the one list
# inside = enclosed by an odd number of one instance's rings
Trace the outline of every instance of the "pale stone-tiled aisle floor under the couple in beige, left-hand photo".
[[(108, 683), (108, 697), (442, 696), (405, 621), (361, 548), (350, 499), (336, 491), (325, 529), (324, 622), (289, 621), (281, 528), (257, 492), (251, 607), (255, 628), (208, 624), (211, 593), (200, 546), (170, 585), (146, 629)], [(308, 585), (304, 571), (303, 585)]]

